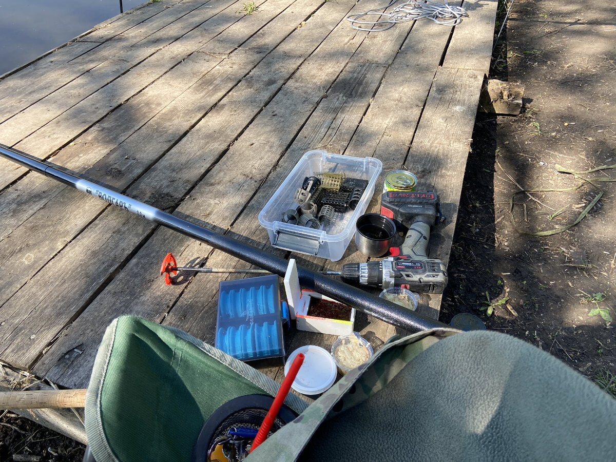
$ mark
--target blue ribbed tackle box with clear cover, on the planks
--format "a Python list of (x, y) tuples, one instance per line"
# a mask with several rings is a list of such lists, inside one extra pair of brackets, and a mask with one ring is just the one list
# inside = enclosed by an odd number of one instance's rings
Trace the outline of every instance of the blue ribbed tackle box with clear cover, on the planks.
[(284, 357), (288, 318), (277, 275), (222, 281), (214, 344), (243, 361)]

